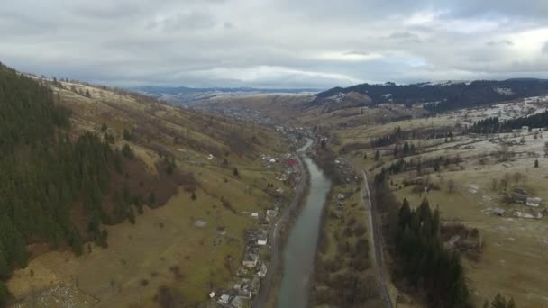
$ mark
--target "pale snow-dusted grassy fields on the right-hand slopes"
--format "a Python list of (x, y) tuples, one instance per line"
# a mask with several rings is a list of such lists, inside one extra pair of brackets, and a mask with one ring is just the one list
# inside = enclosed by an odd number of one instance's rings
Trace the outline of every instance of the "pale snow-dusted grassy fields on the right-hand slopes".
[[(533, 103), (532, 103), (533, 102)], [(514, 117), (542, 111), (545, 100), (536, 99), (516, 104), (501, 104), (493, 107), (465, 112), (453, 112), (430, 119), (390, 122), (384, 125), (362, 125), (334, 131), (333, 149), (343, 149), (350, 143), (362, 143), (345, 156), (364, 168), (379, 172), (388, 168), (397, 159), (393, 157), (394, 147), (371, 148), (370, 141), (386, 136), (400, 127), (402, 131), (452, 130), (455, 125), (497, 114), (497, 110), (515, 110)], [(480, 258), (463, 258), (466, 276), (474, 303), (481, 304), (496, 294), (514, 297), (518, 306), (544, 307), (548, 304), (548, 223), (546, 218), (517, 217), (516, 212), (538, 213), (545, 216), (545, 200), (548, 200), (548, 159), (544, 158), (546, 136), (534, 131), (474, 136), (457, 134), (454, 138), (421, 138), (406, 140), (417, 146), (418, 153), (405, 157), (406, 161), (457, 158), (459, 164), (443, 164), (438, 171), (425, 168), (419, 174), (415, 168), (389, 177), (391, 189), (399, 200), (406, 197), (413, 206), (418, 206), (424, 197), (430, 204), (439, 206), (445, 222), (461, 222), (469, 228), (477, 228), (482, 236)], [(502, 161), (501, 141), (512, 143), (511, 158)], [(523, 142), (523, 144), (522, 144)], [(374, 159), (379, 150), (379, 161)], [(400, 145), (401, 150), (401, 145)], [(367, 159), (363, 159), (363, 155)], [(534, 168), (538, 160), (539, 167)], [(427, 193), (416, 189), (416, 185), (405, 183), (420, 179), (434, 188)], [(501, 180), (507, 182), (501, 186)], [(496, 185), (493, 183), (496, 181)], [(538, 208), (505, 201), (505, 195), (512, 195), (514, 187), (525, 189), (528, 195), (542, 198)], [(505, 211), (503, 217), (495, 209)]]

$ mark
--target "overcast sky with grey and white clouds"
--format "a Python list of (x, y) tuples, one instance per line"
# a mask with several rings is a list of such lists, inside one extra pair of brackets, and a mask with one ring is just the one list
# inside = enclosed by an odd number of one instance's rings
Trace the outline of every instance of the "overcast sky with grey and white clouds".
[(548, 1), (5, 0), (0, 61), (109, 86), (548, 78)]

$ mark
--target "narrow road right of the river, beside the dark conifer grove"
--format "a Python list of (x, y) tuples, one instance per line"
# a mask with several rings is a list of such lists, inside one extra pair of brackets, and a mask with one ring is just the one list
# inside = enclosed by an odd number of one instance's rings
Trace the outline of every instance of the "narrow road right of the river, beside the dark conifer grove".
[[(350, 161), (349, 161), (350, 162)], [(354, 168), (361, 171), (361, 176), (363, 177), (363, 188), (361, 189), (361, 201), (368, 201), (369, 206), (366, 206), (366, 208), (369, 210), (370, 214), (370, 240), (372, 240), (373, 243), (373, 249), (375, 249), (375, 267), (377, 268), (377, 280), (379, 281), (379, 291), (380, 291), (380, 297), (382, 298), (382, 301), (385, 303), (385, 307), (393, 308), (392, 301), (390, 300), (390, 294), (388, 293), (388, 286), (387, 286), (387, 277), (384, 273), (384, 261), (382, 257), (382, 242), (380, 240), (380, 231), (379, 231), (379, 225), (377, 220), (377, 213), (375, 211), (375, 204), (373, 204), (371, 200), (371, 193), (370, 193), (370, 183), (368, 181), (367, 172), (361, 168), (360, 166), (357, 166), (356, 164), (350, 162)], [(365, 195), (364, 195), (365, 194)]]

